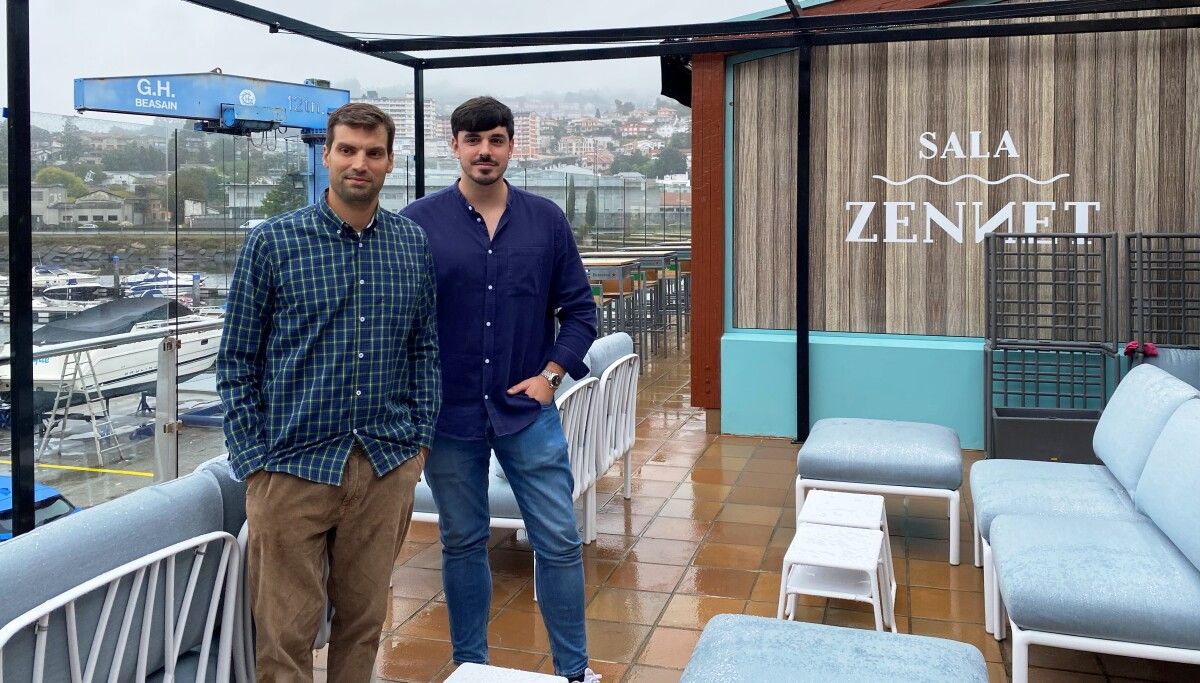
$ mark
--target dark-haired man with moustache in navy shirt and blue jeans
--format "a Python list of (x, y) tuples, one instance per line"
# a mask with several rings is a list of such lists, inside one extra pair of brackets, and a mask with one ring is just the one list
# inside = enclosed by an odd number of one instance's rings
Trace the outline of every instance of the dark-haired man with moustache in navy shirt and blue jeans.
[(402, 214), (425, 228), (437, 271), (443, 401), (425, 474), (440, 520), (454, 659), (487, 663), (494, 450), (536, 557), (554, 671), (598, 681), (587, 666), (582, 546), (554, 408), (563, 373), (588, 372), (583, 354), (596, 332), (592, 288), (563, 211), (504, 180), (512, 112), (475, 97), (455, 109), (450, 127), (458, 181)]

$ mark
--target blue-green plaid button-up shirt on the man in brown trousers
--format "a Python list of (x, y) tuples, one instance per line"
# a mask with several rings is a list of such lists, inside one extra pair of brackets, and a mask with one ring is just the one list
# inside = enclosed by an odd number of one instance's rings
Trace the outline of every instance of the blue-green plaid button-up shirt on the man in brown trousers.
[(251, 229), (217, 357), (234, 477), (336, 486), (355, 441), (378, 475), (428, 447), (436, 292), (424, 230), (384, 209), (361, 235), (325, 198)]

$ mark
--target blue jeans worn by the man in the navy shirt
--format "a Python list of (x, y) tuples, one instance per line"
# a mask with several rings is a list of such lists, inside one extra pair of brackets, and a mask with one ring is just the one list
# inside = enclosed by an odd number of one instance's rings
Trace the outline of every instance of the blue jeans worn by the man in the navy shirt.
[(487, 480), (491, 451), (504, 468), (536, 558), (534, 581), (554, 673), (577, 676), (588, 665), (583, 625), (583, 552), (575, 528), (575, 487), (566, 439), (553, 405), (515, 435), (455, 439), (437, 435), (425, 475), (438, 505), (442, 581), (455, 661), (487, 664), (492, 573), (487, 564)]

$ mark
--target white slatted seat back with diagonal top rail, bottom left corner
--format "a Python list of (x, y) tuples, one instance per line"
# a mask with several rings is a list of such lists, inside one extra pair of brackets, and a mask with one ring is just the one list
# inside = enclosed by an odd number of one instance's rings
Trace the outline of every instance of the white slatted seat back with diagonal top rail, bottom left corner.
[[(211, 593), (199, 586), (205, 557), (220, 549)], [(199, 639), (197, 681), (205, 681), (217, 616), (221, 633), (217, 642), (216, 679), (229, 681), (233, 646), (234, 615), (238, 609), (238, 583), (241, 555), (236, 540), (224, 532), (210, 532), (151, 552), (121, 567), (106, 571), (84, 583), (65, 591), (0, 628), (0, 682), (4, 679), (5, 647), (25, 629), (34, 630), (30, 681), (42, 683), (47, 663), (59, 669), (64, 660), (72, 683), (94, 679), (118, 681), (126, 651), (133, 652), (130, 637), (137, 634), (134, 681), (145, 681), (150, 663), (151, 641), (162, 648), (163, 679), (174, 681), (184, 652), (184, 633), (188, 617), (196, 609), (206, 609), (204, 630)], [(182, 595), (176, 598), (176, 563), (191, 562)], [(211, 565), (211, 561), (210, 561)], [(128, 581), (125, 581), (130, 577)], [(124, 586), (122, 586), (124, 582)], [(158, 595), (160, 583), (162, 594)], [(103, 603), (96, 617), (86, 653), (80, 651), (80, 619), (95, 611), (98, 592), (104, 589)], [(90, 599), (88, 595), (96, 592)], [(208, 595), (208, 605), (194, 604), (198, 595)], [(77, 609), (78, 604), (78, 609)], [(176, 613), (178, 607), (178, 613)], [(120, 615), (118, 618), (116, 615)], [(90, 621), (90, 619), (89, 619)], [(161, 623), (155, 633), (154, 624)], [(109, 627), (118, 627), (115, 649), (109, 649)], [(61, 635), (65, 631), (65, 643)], [(59, 635), (56, 635), (59, 634)], [(154, 636), (154, 637), (151, 637)], [(65, 647), (62, 647), (65, 645)], [(59, 649), (59, 647), (62, 647)], [(86, 657), (84, 657), (86, 655)], [(107, 658), (106, 658), (107, 655)]]

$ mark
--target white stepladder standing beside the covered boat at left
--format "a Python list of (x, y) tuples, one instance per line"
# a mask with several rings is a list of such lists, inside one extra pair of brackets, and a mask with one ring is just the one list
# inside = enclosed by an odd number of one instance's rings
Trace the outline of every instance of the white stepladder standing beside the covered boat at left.
[[(83, 396), (83, 406), (88, 409), (86, 417), (79, 419), (91, 424), (91, 438), (96, 447), (96, 457), (88, 459), (91, 467), (104, 465), (104, 454), (116, 451), (116, 460), (125, 460), (121, 451), (121, 442), (113, 431), (113, 423), (108, 419), (108, 409), (104, 407), (104, 395), (100, 390), (100, 379), (96, 376), (96, 365), (91, 360), (90, 351), (80, 351), (67, 354), (62, 361), (62, 372), (59, 376), (59, 388), (54, 394), (54, 407), (50, 409), (46, 431), (42, 432), (42, 441), (37, 447), (37, 462), (42, 461), (46, 447), (50, 441), (54, 429), (59, 430), (59, 455), (62, 454), (62, 439), (66, 438), (66, 424), (72, 419), (71, 406), (76, 396)], [(59, 412), (61, 408), (61, 413)]]

